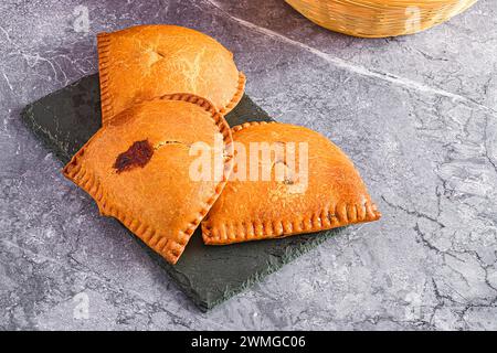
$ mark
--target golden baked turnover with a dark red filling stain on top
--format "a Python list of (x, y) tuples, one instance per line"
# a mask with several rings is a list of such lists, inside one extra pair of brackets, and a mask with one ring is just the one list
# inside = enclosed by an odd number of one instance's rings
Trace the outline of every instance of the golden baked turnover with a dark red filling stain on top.
[[(231, 141), (212, 104), (192, 95), (163, 96), (107, 121), (63, 173), (92, 195), (103, 215), (119, 220), (176, 264), (226, 182)], [(207, 159), (225, 172), (192, 175), (193, 143), (209, 147)]]

